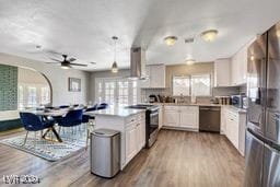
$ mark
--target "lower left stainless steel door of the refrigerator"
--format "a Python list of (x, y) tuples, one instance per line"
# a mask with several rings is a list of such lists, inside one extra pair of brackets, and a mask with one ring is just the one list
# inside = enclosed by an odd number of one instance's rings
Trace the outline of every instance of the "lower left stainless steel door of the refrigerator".
[(246, 168), (244, 187), (261, 187), (264, 142), (246, 132)]

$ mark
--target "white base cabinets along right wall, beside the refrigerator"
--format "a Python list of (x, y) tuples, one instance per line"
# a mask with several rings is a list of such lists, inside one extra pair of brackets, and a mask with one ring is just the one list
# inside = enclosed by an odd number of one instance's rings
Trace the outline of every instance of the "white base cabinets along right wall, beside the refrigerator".
[(237, 109), (224, 108), (225, 136), (242, 155), (245, 152), (246, 114)]

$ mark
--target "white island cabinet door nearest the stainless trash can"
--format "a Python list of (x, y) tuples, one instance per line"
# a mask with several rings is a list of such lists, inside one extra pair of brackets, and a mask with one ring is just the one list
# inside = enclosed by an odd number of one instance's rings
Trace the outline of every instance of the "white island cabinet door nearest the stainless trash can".
[(128, 163), (137, 153), (137, 127), (130, 125), (126, 129), (126, 162)]

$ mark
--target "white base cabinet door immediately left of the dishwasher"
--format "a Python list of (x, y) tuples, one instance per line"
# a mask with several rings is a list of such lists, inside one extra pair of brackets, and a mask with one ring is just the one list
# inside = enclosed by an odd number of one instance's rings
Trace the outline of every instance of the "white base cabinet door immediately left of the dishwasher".
[(179, 126), (183, 128), (198, 129), (198, 113), (191, 110), (180, 110)]

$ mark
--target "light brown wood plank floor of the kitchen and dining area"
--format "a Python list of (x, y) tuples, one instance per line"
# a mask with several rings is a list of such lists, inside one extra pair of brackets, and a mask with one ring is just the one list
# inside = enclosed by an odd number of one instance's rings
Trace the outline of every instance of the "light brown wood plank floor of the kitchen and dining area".
[(33, 174), (42, 178), (39, 186), (59, 187), (238, 187), (243, 184), (244, 159), (224, 136), (214, 133), (162, 130), (155, 144), (143, 149), (113, 179), (92, 175), (89, 157), (88, 150), (60, 162), (47, 162), (0, 144), (0, 177)]

